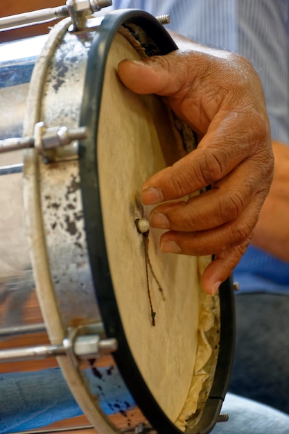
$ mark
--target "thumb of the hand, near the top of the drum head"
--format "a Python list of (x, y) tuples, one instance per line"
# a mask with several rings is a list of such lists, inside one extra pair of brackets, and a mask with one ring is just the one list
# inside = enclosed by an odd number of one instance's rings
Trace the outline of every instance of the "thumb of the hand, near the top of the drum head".
[[(184, 77), (177, 71), (177, 58), (174, 53), (154, 56), (144, 61), (123, 60), (119, 64), (119, 78), (123, 84), (137, 94), (158, 94), (171, 96), (182, 88)], [(179, 67), (178, 67), (179, 68)], [(186, 62), (182, 69), (187, 68)]]

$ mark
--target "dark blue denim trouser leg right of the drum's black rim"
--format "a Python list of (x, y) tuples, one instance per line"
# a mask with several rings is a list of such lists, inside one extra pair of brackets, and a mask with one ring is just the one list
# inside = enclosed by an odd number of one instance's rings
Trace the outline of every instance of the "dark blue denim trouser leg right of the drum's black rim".
[(229, 390), (289, 414), (288, 318), (288, 295), (236, 296), (236, 354)]

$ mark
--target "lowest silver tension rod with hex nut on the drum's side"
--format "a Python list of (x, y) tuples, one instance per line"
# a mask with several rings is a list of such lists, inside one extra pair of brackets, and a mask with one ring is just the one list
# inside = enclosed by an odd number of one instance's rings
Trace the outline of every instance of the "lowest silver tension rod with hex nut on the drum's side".
[[(83, 329), (87, 330), (85, 327)], [(62, 345), (3, 349), (0, 351), (0, 363), (69, 356), (73, 364), (77, 365), (79, 360), (88, 360), (116, 351), (117, 341), (115, 338), (101, 339), (99, 335), (82, 335), (82, 332), (82, 327), (69, 328)]]

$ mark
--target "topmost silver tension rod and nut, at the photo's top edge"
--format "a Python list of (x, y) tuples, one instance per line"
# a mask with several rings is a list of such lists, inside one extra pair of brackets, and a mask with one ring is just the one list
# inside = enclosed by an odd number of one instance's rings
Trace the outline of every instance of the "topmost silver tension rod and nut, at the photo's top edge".
[(78, 22), (77, 14), (82, 14), (83, 12), (91, 14), (111, 5), (111, 0), (69, 0), (66, 5), (58, 6), (57, 8), (34, 10), (32, 12), (0, 18), (0, 32), (12, 30), (13, 28), (32, 26), (33, 24), (46, 23), (60, 17), (69, 17), (69, 15), (75, 25)]

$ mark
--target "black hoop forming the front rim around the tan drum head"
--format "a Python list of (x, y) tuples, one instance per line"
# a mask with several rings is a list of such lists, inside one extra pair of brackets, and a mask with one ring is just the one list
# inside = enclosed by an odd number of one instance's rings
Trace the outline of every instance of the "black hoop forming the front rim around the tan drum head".
[[(87, 76), (85, 78), (85, 91), (82, 101), (80, 124), (87, 125), (91, 134), (85, 142), (80, 142), (80, 185), (82, 190), (82, 203), (87, 233), (87, 245), (89, 261), (94, 279), (94, 288), (100, 304), (101, 315), (105, 323), (107, 337), (117, 338), (119, 350), (114, 354), (116, 364), (119, 367), (128, 389), (143, 414), (148, 418), (158, 433), (182, 433), (164, 412), (159, 408), (152, 396), (139, 368), (137, 367), (128, 342), (125, 338), (119, 309), (114, 295), (110, 266), (107, 256), (103, 218), (101, 213), (101, 200), (98, 180), (97, 164), (97, 131), (100, 115), (100, 101), (103, 89), (105, 64), (114, 35), (123, 25), (134, 24), (140, 26), (152, 40), (157, 40), (159, 52), (155, 54), (167, 54), (177, 49), (175, 42), (164, 30), (159, 22), (142, 10), (116, 10), (110, 12), (103, 19), (101, 31), (96, 34), (89, 51), (87, 64)], [(107, 37), (108, 35), (108, 37)], [(152, 53), (150, 53), (152, 55)], [(98, 75), (94, 71), (98, 65)], [(101, 68), (99, 67), (101, 65)], [(91, 201), (91, 197), (95, 200)], [(220, 360), (218, 358), (216, 372), (200, 421), (189, 433), (208, 433), (218, 420), (222, 400), (225, 397), (229, 383), (232, 359), (234, 354), (234, 304), (233, 288), (231, 281), (227, 281), (220, 288), (220, 318), (222, 327), (220, 330)], [(130, 360), (129, 366), (127, 361)]]

